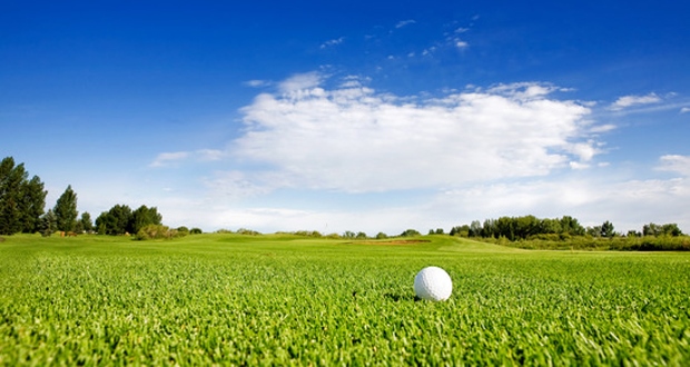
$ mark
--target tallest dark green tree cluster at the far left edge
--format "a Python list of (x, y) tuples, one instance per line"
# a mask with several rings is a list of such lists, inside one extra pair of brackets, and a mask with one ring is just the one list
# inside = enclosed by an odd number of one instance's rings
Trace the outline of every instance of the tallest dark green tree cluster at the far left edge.
[(0, 235), (34, 232), (46, 207), (46, 190), (38, 176), (29, 180), (24, 165), (7, 157), (0, 162)]

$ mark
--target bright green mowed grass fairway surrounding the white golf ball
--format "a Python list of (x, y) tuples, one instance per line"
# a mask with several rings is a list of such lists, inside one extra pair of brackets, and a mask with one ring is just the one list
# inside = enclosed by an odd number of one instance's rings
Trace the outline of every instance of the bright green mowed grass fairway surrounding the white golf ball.
[(7, 237), (0, 365), (690, 364), (690, 254), (422, 239)]

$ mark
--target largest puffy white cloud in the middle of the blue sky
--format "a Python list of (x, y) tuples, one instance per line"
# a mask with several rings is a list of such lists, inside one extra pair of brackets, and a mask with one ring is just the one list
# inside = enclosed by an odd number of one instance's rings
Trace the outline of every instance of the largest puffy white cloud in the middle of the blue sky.
[(282, 187), (346, 192), (437, 188), (543, 176), (598, 153), (590, 109), (549, 98), (553, 86), (422, 99), (355, 85), (328, 90), (322, 80), (294, 76), (283, 95), (262, 93), (241, 109), (247, 130), (230, 155), (269, 167), (248, 180), (269, 173)]

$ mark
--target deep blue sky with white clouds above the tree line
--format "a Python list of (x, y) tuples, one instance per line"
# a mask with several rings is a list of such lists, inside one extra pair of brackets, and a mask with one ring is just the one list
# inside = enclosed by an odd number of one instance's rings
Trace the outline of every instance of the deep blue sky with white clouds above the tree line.
[(0, 158), (92, 218), (690, 232), (690, 3), (3, 1)]

